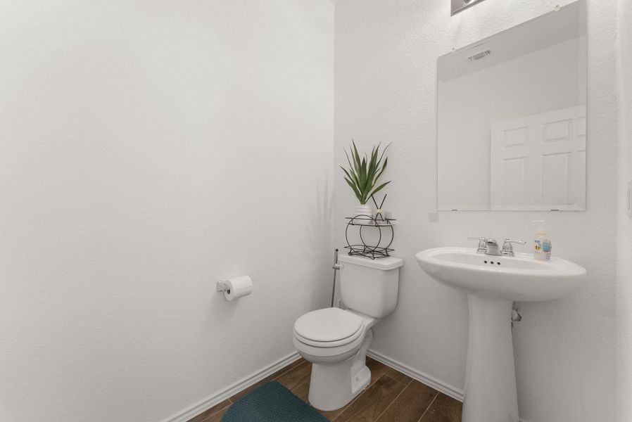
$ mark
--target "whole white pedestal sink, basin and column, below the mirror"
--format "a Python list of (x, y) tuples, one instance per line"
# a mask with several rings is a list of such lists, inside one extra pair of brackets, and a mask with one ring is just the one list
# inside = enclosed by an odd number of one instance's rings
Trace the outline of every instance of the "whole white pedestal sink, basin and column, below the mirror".
[(433, 279), (468, 294), (462, 422), (518, 422), (512, 304), (563, 298), (585, 279), (586, 269), (557, 257), (538, 261), (474, 248), (426, 249), (415, 257)]

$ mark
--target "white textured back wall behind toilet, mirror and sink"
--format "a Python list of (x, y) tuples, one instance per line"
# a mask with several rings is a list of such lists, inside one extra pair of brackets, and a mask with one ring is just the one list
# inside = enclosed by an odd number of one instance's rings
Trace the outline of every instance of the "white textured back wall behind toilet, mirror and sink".
[[(531, 240), (532, 220), (545, 219), (554, 253), (588, 269), (586, 284), (569, 298), (519, 304), (519, 406), (532, 422), (614, 418), (616, 9), (588, 1), (586, 212), (441, 212), (438, 223), (428, 221), (437, 206), (436, 58), (568, 3), (486, 0), (453, 18), (442, 0), (336, 5), (335, 163), (344, 162), (343, 147), (352, 136), (360, 146), (393, 141), (385, 207), (398, 219), (393, 255), (405, 264), (398, 307), (375, 328), (372, 349), (463, 388), (467, 298), (426, 276), (414, 259), (419, 250), (474, 245), (467, 236)], [(342, 246), (343, 217), (355, 204), (339, 173), (334, 243)]]

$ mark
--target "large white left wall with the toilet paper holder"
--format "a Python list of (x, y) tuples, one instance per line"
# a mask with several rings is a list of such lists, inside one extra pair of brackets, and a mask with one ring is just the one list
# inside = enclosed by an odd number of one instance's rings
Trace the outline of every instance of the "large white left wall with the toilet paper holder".
[(333, 13), (0, 1), (0, 420), (155, 422), (293, 352), (331, 283)]

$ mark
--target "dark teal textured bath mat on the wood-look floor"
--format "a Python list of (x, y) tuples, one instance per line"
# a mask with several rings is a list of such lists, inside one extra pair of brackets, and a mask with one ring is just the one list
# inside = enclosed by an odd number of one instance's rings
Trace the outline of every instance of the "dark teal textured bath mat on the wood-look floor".
[(329, 422), (277, 381), (260, 385), (228, 408), (222, 422)]

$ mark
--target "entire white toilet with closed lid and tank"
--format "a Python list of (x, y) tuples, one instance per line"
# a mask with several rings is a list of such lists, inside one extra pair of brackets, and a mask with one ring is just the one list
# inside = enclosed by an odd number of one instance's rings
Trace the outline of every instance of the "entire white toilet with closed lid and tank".
[(310, 404), (324, 411), (340, 409), (369, 385), (371, 327), (397, 305), (403, 261), (343, 255), (339, 264), (340, 291), (348, 309), (308, 312), (296, 319), (293, 329), (294, 347), (312, 363)]

